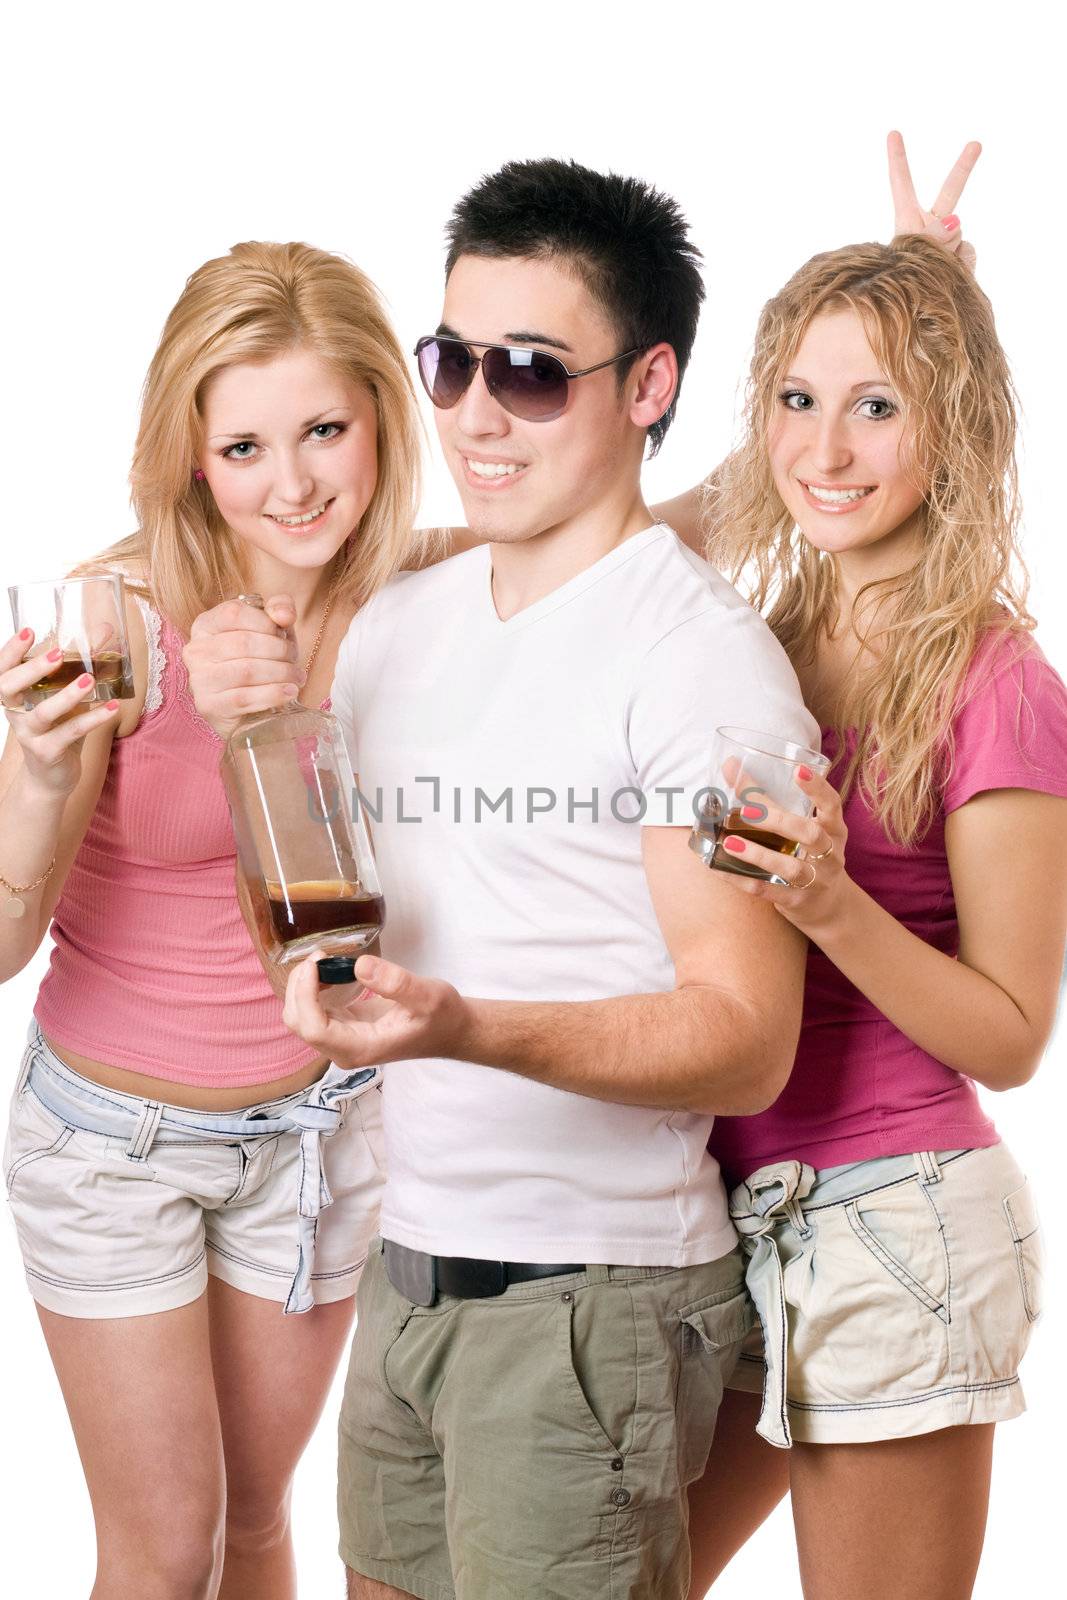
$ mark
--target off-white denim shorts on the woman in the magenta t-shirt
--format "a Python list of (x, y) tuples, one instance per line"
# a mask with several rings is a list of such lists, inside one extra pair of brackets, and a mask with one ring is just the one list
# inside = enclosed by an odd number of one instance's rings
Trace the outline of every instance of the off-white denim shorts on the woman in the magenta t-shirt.
[(761, 1326), (728, 1387), (763, 1394), (769, 1443), (904, 1438), (1025, 1410), (1041, 1237), (1003, 1144), (817, 1173), (779, 1162), (729, 1208)]

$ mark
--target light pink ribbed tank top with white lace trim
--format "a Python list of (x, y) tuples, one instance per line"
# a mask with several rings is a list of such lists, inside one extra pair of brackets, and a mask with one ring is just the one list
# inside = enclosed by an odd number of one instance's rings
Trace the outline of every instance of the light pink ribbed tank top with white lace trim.
[(53, 1045), (146, 1077), (267, 1083), (317, 1053), (285, 1027), (237, 904), (222, 742), (194, 709), (181, 635), (147, 621), (158, 688), (112, 746), (34, 1014)]

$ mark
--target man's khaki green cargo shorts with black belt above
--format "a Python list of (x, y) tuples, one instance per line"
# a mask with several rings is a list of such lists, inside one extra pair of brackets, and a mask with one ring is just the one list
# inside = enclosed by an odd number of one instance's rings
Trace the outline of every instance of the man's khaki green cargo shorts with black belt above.
[(686, 1485), (753, 1312), (741, 1253), (413, 1306), (371, 1248), (341, 1555), (419, 1600), (685, 1600)]

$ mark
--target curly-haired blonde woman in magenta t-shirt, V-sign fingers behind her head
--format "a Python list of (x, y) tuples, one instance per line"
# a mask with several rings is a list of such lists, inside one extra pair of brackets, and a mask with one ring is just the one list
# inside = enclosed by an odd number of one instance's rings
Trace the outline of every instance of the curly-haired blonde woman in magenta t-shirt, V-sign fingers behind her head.
[(833, 766), (797, 771), (811, 819), (763, 816), (800, 859), (726, 842), (789, 878), (733, 882), (811, 950), (785, 1091), (712, 1134), (761, 1331), (691, 1494), (693, 1595), (789, 1490), (806, 1600), (965, 1600), (1040, 1314), (1033, 1198), (976, 1085), (1025, 1083), (1053, 1027), (1067, 691), (1016, 576), (1008, 363), (941, 216), (966, 171), (923, 213), (899, 136), (891, 168), (897, 238), (765, 307), (707, 506)]

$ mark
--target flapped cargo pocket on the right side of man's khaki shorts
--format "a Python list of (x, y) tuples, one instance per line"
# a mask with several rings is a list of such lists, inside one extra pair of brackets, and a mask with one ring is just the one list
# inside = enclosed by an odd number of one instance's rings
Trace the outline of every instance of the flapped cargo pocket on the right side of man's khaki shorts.
[(699, 1478), (715, 1437), (723, 1386), (755, 1325), (749, 1291), (729, 1299), (702, 1299), (678, 1312), (678, 1480)]

